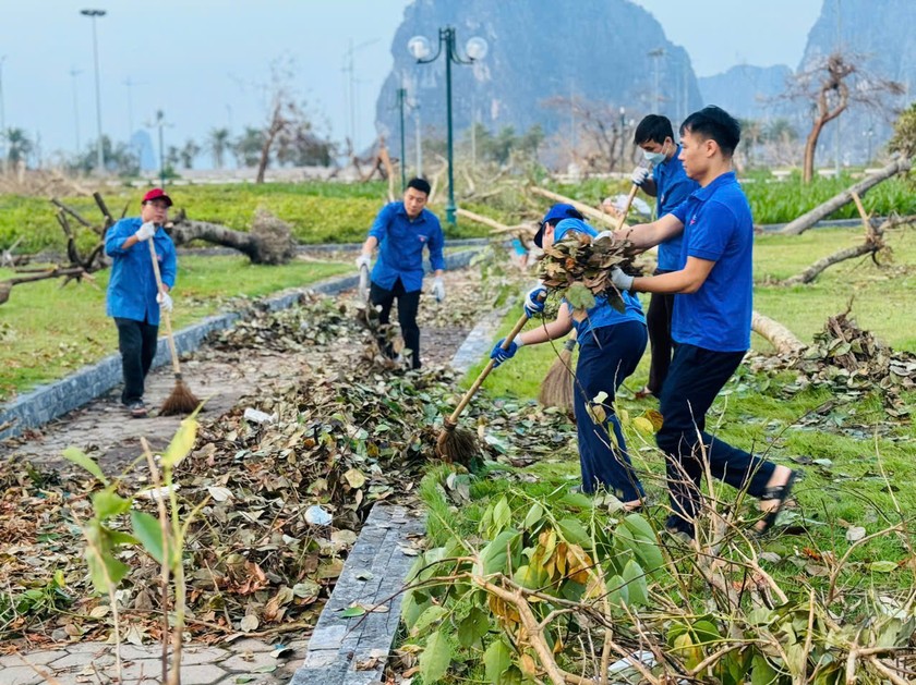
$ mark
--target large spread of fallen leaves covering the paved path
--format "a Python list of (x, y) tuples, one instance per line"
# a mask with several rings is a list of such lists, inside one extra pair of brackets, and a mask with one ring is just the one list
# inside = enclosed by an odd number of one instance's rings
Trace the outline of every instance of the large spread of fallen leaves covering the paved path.
[[(188, 632), (216, 640), (301, 629), (314, 624), (369, 509), (379, 501), (414, 504), (421, 472), (436, 460), (442, 416), (460, 389), (445, 369), (379, 365), (371, 333), (348, 306), (326, 297), (256, 313), (213, 344), (240, 359), (250, 346), (302, 352), (311, 367), (222, 416), (203, 415), (193, 450), (176, 467), (181, 516), (191, 522)], [(559, 413), (533, 404), (494, 413), (483, 397), (462, 424), (477, 426), (479, 462), (506, 465), (549, 455), (566, 440), (557, 436), (571, 432)], [(136, 491), (137, 481), (145, 485), (137, 473), (122, 476), (117, 490), (155, 516), (155, 501)], [(0, 562), (8, 578), (0, 596), (2, 641), (108, 638), (108, 598), (93, 591), (82, 559), (82, 528), (98, 482), (82, 472), (65, 476), (7, 463), (0, 486)], [(109, 523), (131, 530), (126, 515)], [(118, 559), (130, 567), (118, 590), (124, 639), (158, 639), (159, 564), (126, 546)]]

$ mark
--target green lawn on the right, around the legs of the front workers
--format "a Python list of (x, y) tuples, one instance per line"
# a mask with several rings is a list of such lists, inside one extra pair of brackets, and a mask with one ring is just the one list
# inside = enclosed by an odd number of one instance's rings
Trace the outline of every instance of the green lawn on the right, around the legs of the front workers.
[[(843, 311), (853, 298), (852, 316), (861, 328), (871, 330), (895, 350), (916, 352), (916, 310), (907, 305), (916, 294), (916, 235), (912, 233), (896, 232), (888, 236), (893, 261), (887, 267), (878, 268), (870, 259), (856, 259), (829, 269), (812, 285), (784, 289), (772, 284), (860, 240), (858, 231), (848, 229), (809, 231), (801, 236), (759, 236), (755, 252), (755, 306), (787, 326), (803, 341), (810, 342), (827, 317)], [(519, 307), (507, 315), (501, 334), (511, 328), (520, 314)], [(562, 342), (555, 344), (556, 351), (550, 344), (526, 347), (493, 371), (484, 382), (487, 401), (533, 401), (544, 372), (561, 350)], [(757, 335), (754, 335), (752, 344), (761, 351), (769, 348), (769, 343)], [(647, 351), (639, 370), (618, 396), (620, 409), (629, 418), (656, 406), (653, 400), (636, 401), (632, 397), (632, 391), (646, 381), (648, 364)], [(471, 369), (466, 387), (482, 366), (483, 363)], [(913, 460), (916, 429), (911, 421), (891, 423), (877, 392), (854, 402), (823, 389), (808, 389), (792, 396), (783, 393), (784, 386), (794, 380), (792, 372), (769, 378), (742, 367), (713, 406), (709, 425), (715, 426), (716, 433), (726, 441), (766, 453), (779, 463), (805, 472), (805, 480), (796, 486), (799, 509), (795, 516), (807, 533), (800, 538), (775, 537), (767, 547), (787, 555), (792, 555), (792, 550), (798, 546), (834, 550), (842, 555), (848, 547), (844, 536), (849, 525), (861, 525), (869, 534), (875, 533), (887, 525), (889, 518), (895, 517), (896, 505), (912, 517), (916, 510), (916, 492), (908, 484), (916, 480)], [(916, 404), (916, 393), (908, 393), (905, 399), (909, 406)], [(830, 400), (837, 404), (817, 427), (801, 420)], [(638, 433), (632, 426), (626, 432), (635, 462), (647, 475), (643, 478), (647, 488), (655, 501), (664, 501), (664, 465), (653, 438)], [(553, 458), (538, 462), (523, 472), (535, 482), (518, 485), (503, 477), (474, 479), (471, 503), (462, 507), (460, 517), (451, 510), (443, 512), (443, 502), (427, 489), (427, 502), (434, 513), (431, 517), (434, 536), (446, 534), (446, 521), (448, 526), (469, 534), (490, 499), (509, 488), (542, 497), (547, 492), (563, 493), (569, 485), (578, 482), (572, 427)], [(435, 479), (435, 476), (431, 477)], [(562, 501), (559, 505), (563, 506)], [(436, 523), (436, 512), (445, 516), (445, 521)], [(900, 561), (907, 553), (899, 538), (884, 536), (858, 548), (852, 559), (859, 562)], [(791, 582), (797, 568), (783, 563), (774, 573)], [(912, 583), (912, 576), (901, 570), (896, 582), (905, 586)]]

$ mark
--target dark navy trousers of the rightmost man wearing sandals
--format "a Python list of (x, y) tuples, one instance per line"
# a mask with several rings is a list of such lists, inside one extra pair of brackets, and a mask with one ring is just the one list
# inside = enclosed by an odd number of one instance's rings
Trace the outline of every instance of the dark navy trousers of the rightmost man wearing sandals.
[(775, 468), (774, 464), (706, 432), (707, 412), (744, 355), (675, 344), (662, 387), (659, 409), (664, 424), (655, 433), (655, 442), (666, 455), (668, 496), (674, 510), (667, 525), (690, 536), (700, 511), (703, 460), (714, 478), (734, 488), (747, 488), (754, 497), (763, 493)]

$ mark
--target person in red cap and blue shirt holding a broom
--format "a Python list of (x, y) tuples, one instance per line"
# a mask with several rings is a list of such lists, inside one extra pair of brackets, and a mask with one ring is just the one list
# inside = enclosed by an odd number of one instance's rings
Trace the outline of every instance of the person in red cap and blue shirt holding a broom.
[[(172, 308), (169, 292), (174, 288), (178, 262), (174, 244), (162, 230), (171, 204), (171, 198), (160, 188), (153, 188), (143, 196), (140, 216), (121, 219), (105, 236), (105, 254), (112, 259), (107, 313), (118, 327), (124, 375), (121, 402), (134, 418), (146, 416), (143, 390), (156, 356), (159, 308), (167, 311)], [(156, 248), (162, 293), (156, 285), (148, 241)]]

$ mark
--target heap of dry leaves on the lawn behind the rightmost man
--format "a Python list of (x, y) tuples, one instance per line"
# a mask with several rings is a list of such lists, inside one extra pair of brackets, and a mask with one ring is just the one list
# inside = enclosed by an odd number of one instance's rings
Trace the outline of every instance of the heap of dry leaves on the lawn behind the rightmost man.
[(757, 358), (751, 368), (796, 371), (797, 380), (782, 392), (794, 395), (809, 387), (825, 388), (836, 397), (833, 404), (877, 391), (888, 416), (905, 420), (911, 409), (903, 393), (916, 390), (916, 355), (892, 350), (860, 329), (848, 314), (829, 317), (800, 357)]

